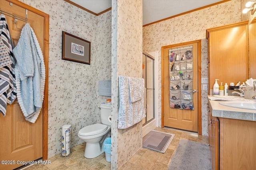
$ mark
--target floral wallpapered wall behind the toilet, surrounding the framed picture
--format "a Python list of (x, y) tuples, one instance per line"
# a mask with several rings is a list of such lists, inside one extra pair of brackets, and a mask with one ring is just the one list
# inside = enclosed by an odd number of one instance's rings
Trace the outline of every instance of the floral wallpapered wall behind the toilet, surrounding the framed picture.
[[(111, 77), (111, 11), (94, 16), (63, 0), (20, 0), (50, 16), (48, 158), (61, 152), (60, 128), (72, 125), (72, 145), (86, 125), (100, 122), (98, 80)], [(61, 59), (62, 31), (91, 42), (90, 65)]]

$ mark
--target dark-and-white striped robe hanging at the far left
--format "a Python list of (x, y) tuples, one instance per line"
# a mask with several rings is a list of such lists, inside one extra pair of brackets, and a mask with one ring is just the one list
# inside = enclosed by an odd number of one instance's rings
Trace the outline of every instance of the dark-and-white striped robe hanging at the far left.
[[(13, 43), (6, 18), (0, 16), (0, 112), (6, 115), (6, 106), (16, 99), (14, 76), (15, 61), (12, 53)], [(8, 53), (8, 56), (6, 54)], [(1, 60), (2, 59), (2, 60)], [(10, 62), (11, 60), (11, 62)]]

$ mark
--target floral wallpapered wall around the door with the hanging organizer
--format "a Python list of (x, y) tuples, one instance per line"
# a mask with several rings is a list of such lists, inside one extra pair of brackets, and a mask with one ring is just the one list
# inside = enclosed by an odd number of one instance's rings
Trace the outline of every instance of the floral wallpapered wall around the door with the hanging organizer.
[[(143, 51), (158, 51), (158, 126), (161, 127), (161, 47), (202, 40), (202, 78), (208, 77), (206, 29), (241, 21), (241, 2), (232, 0), (143, 27)], [(209, 87), (211, 88), (211, 87)], [(202, 135), (207, 130), (207, 91), (202, 90)]]

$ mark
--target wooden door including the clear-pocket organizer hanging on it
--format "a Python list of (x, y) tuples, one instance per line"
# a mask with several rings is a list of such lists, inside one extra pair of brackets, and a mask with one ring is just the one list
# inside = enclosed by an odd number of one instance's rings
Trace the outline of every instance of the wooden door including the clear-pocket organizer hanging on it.
[(200, 55), (200, 40), (162, 47), (162, 126), (201, 133)]

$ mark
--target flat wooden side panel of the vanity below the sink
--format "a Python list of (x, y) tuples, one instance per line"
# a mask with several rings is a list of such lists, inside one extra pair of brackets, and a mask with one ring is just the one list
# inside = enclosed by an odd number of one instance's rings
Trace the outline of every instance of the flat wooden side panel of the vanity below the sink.
[(256, 170), (256, 121), (226, 119), (220, 123), (220, 170)]

